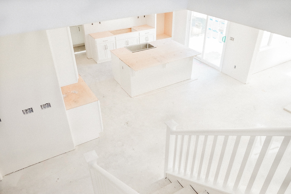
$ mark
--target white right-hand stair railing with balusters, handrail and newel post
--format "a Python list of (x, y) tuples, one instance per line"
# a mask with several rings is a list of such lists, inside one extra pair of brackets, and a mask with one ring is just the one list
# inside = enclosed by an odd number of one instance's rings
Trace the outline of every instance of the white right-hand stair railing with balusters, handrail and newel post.
[[(244, 191), (245, 194), (251, 193), (256, 177), (261, 176), (261, 174), (265, 172), (267, 172), (268, 174), (266, 175), (264, 183), (262, 184), (262, 187), (260, 188), (259, 194), (265, 194), (267, 192), (267, 189), (270, 186), (271, 180), (273, 179), (275, 172), (278, 172), (278, 171), (283, 172), (283, 171), (289, 170), (284, 181), (281, 182), (281, 187), (278, 190), (277, 194), (285, 193), (288, 185), (291, 182), (290, 165), (285, 165), (285, 166), (283, 165), (284, 167), (282, 165), (280, 167), (279, 165), (285, 151), (288, 150), (288, 145), (291, 140), (291, 127), (176, 130), (178, 123), (176, 123), (174, 120), (166, 121), (165, 124), (167, 126), (165, 164), (164, 164), (164, 177), (165, 178), (166, 178), (167, 173), (170, 173), (170, 174), (174, 173), (176, 176), (179, 175), (181, 177), (184, 177), (185, 179), (192, 179), (194, 175), (193, 174), (194, 168), (195, 168), (196, 171), (195, 171), (194, 177), (196, 177), (197, 181), (201, 182), (204, 179), (205, 184), (212, 184), (210, 182), (213, 181), (212, 186), (217, 187), (218, 186), (217, 179), (219, 176), (221, 176), (221, 177), (224, 177), (223, 183), (220, 180), (222, 188), (226, 188), (229, 181), (231, 182), (235, 181), (232, 190), (233, 192), (236, 193), (238, 186), (240, 184), (240, 181), (242, 181), (242, 175), (243, 175), (244, 170), (246, 168), (252, 168), (252, 169), (249, 169), (250, 171), (252, 171), (252, 173), (248, 182), (246, 182), (247, 186)], [(171, 139), (172, 136), (173, 138)], [(180, 138), (178, 138), (178, 136), (180, 136)], [(193, 136), (196, 136), (196, 138), (194, 138)], [(202, 137), (200, 138), (200, 136)], [(209, 138), (208, 136), (214, 136), (214, 137)], [(221, 136), (220, 143), (217, 143), (217, 139), (219, 136)], [(234, 136), (232, 138), (232, 141), (228, 141), (229, 136)], [(249, 136), (249, 137), (245, 137), (244, 140), (242, 140), (242, 136)], [(262, 136), (265, 136), (265, 140), (263, 140), (263, 144), (262, 144), (262, 139), (261, 139)], [(281, 138), (280, 146), (271, 148), (270, 146), (272, 145), (274, 137), (283, 137), (283, 138)], [(259, 151), (259, 153), (252, 154), (254, 147), (257, 146), (256, 142), (258, 141), (258, 139), (260, 139), (260, 143), (259, 143), (260, 145), (258, 145), (260, 148), (258, 150), (258, 147), (257, 147), (256, 152)], [(194, 142), (195, 142), (195, 145), (194, 145)], [(171, 143), (171, 149), (172, 149), (171, 159), (169, 159), (170, 143)], [(206, 148), (207, 144), (208, 144), (208, 148)], [(242, 146), (242, 144), (244, 145)], [(193, 157), (191, 156), (191, 158), (189, 154), (190, 146), (192, 148), (191, 154), (193, 156)], [(228, 149), (226, 149), (227, 146), (228, 146)], [(198, 147), (200, 150), (199, 152), (197, 151)], [(228, 157), (229, 157), (228, 159), (226, 159), (227, 161), (225, 161), (225, 157), (224, 157), (226, 150), (228, 150), (227, 152), (228, 152)], [(274, 150), (272, 151), (273, 152), (272, 154), (276, 153), (275, 158), (272, 158), (271, 155), (268, 156), (268, 152), (270, 150)], [(208, 154), (208, 158), (207, 157), (205, 158), (204, 156), (205, 153)], [(213, 160), (214, 155), (216, 157), (215, 161)], [(239, 155), (240, 157), (243, 156), (243, 158), (235, 161), (235, 158), (237, 155)], [(258, 156), (253, 157), (254, 155), (258, 155)], [(263, 164), (265, 156), (272, 158), (271, 161), (268, 161), (268, 163), (272, 162), (272, 165), (268, 166), (266, 169), (263, 170), (264, 172), (262, 172), (262, 170), (261, 171), (259, 170), (261, 168), (261, 165)], [(192, 159), (192, 162), (190, 160), (189, 164), (188, 164), (188, 159)], [(246, 165), (248, 161), (252, 161), (253, 163), (252, 167), (248, 167)], [(286, 162), (286, 159), (285, 159), (285, 162)], [(226, 172), (224, 170), (221, 171), (222, 163), (228, 163)], [(238, 172), (235, 172), (235, 170), (233, 171), (234, 164), (237, 167), (239, 167)], [(170, 169), (168, 167), (170, 167)], [(280, 167), (280, 169), (277, 171), (278, 167)], [(201, 177), (202, 168), (204, 168), (205, 170), (205, 172), (203, 172), (204, 173), (203, 177)], [(216, 170), (213, 171), (213, 168), (216, 168)], [(212, 178), (210, 181), (209, 173), (211, 169), (212, 169), (212, 172), (215, 172), (215, 174), (212, 173)], [(236, 179), (230, 180), (231, 172), (236, 173), (235, 174)], [(258, 183), (255, 183), (255, 184), (258, 184)], [(258, 188), (258, 185), (254, 187)]]

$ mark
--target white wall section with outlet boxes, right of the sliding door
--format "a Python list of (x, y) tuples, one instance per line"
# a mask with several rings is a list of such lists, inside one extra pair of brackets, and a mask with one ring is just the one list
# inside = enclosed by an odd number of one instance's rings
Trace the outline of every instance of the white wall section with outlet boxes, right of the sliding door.
[[(222, 72), (242, 83), (248, 83), (250, 69), (258, 53), (256, 46), (259, 30), (234, 22), (228, 22), (227, 25), (229, 29), (226, 35)], [(230, 40), (230, 37), (234, 40)]]

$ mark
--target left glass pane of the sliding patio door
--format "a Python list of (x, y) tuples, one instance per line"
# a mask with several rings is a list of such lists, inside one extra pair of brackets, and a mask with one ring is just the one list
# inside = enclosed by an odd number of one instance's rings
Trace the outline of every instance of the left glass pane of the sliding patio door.
[[(202, 53), (207, 15), (192, 11), (189, 48)], [(197, 56), (201, 58), (201, 55)]]

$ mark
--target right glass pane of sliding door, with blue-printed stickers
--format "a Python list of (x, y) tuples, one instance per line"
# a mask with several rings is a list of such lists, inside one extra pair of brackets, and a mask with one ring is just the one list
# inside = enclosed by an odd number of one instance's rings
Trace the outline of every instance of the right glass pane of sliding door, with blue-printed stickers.
[(208, 16), (203, 59), (218, 67), (225, 42), (226, 23), (223, 19)]

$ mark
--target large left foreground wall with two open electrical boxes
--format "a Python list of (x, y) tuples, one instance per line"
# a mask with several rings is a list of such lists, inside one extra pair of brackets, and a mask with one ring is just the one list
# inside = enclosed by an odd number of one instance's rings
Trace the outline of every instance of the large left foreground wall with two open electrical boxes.
[(74, 149), (46, 31), (0, 37), (0, 91), (2, 175)]

